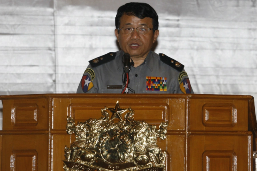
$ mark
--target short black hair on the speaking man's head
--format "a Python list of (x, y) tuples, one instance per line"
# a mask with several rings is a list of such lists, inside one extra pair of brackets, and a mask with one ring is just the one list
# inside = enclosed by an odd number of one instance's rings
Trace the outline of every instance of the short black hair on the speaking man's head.
[(144, 17), (150, 17), (152, 18), (152, 25), (154, 30), (158, 30), (158, 15), (156, 11), (147, 3), (130, 2), (119, 7), (115, 17), (115, 26), (117, 29), (120, 27), (120, 20), (123, 14), (134, 15), (140, 19), (143, 19)]

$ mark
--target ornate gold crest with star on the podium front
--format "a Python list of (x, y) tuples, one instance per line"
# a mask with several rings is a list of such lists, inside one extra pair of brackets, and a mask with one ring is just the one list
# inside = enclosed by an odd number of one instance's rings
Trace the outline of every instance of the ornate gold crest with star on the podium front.
[[(100, 119), (89, 119), (75, 125), (67, 118), (67, 133), (75, 133), (76, 141), (65, 147), (65, 171), (164, 171), (166, 152), (156, 145), (157, 138), (166, 139), (167, 123), (159, 129), (145, 121), (135, 121), (131, 108), (101, 110)], [(111, 117), (110, 117), (111, 114)], [(123, 119), (122, 114), (125, 114)], [(113, 119), (118, 118), (118, 122)]]

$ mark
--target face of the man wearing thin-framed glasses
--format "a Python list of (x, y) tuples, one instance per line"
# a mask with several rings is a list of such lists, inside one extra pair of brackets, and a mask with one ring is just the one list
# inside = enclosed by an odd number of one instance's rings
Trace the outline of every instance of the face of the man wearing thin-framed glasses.
[[(140, 19), (133, 15), (123, 15), (120, 19), (120, 27), (148, 27), (153, 28), (152, 18), (145, 17)], [(120, 44), (121, 49), (130, 54), (132, 58), (146, 58), (152, 48), (153, 43), (156, 41), (159, 30), (149, 30), (146, 34), (139, 34), (136, 29), (130, 34), (124, 34), (115, 29), (115, 35)]]

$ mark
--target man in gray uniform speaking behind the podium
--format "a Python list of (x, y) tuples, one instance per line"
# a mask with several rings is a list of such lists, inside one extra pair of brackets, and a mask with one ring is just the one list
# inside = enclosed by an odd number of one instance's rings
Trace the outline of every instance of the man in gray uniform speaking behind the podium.
[(115, 25), (121, 51), (89, 61), (77, 93), (121, 93), (127, 82), (124, 54), (130, 55), (131, 65), (127, 93), (193, 93), (184, 66), (151, 51), (159, 30), (150, 5), (126, 3), (117, 10)]

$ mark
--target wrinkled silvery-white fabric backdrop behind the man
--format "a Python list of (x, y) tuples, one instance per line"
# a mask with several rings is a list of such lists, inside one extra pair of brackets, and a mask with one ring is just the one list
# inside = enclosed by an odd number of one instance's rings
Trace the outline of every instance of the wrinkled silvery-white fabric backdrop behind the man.
[[(119, 50), (130, 1), (0, 0), (0, 95), (75, 93), (89, 60)], [(185, 65), (195, 93), (257, 97), (256, 0), (141, 2), (159, 15), (154, 51)]]

